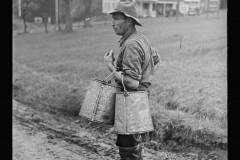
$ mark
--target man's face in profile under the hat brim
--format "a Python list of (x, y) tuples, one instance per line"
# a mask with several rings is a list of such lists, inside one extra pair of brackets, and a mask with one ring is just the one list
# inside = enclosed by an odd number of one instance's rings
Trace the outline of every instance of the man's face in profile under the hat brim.
[(125, 16), (120, 12), (116, 12), (113, 13), (112, 18), (111, 26), (113, 27), (113, 30), (117, 35), (123, 36), (129, 27), (127, 20), (124, 19)]

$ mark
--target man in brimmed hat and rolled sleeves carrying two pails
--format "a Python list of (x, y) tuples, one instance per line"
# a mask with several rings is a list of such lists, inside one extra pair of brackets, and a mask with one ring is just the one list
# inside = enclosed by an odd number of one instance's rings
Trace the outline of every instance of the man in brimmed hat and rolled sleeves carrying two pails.
[[(146, 37), (136, 31), (135, 25), (142, 25), (138, 19), (135, 2), (120, 0), (115, 10), (109, 14), (113, 18), (111, 23), (113, 30), (122, 38), (119, 41), (120, 54), (116, 66), (112, 50), (104, 56), (108, 69), (114, 72), (116, 82), (120, 85), (123, 75), (127, 91), (146, 90), (149, 93), (160, 56)], [(118, 134), (116, 145), (119, 147), (121, 160), (143, 159), (143, 146), (139, 136)]]

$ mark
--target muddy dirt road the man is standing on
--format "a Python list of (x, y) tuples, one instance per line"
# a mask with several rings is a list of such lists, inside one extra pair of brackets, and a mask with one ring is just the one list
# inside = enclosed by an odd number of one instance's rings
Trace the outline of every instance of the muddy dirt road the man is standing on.
[[(119, 160), (116, 135), (106, 134), (111, 126), (83, 121), (13, 100), (13, 160)], [(198, 158), (144, 149), (144, 160)]]

